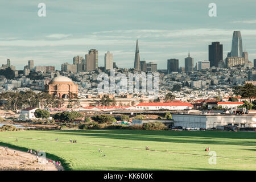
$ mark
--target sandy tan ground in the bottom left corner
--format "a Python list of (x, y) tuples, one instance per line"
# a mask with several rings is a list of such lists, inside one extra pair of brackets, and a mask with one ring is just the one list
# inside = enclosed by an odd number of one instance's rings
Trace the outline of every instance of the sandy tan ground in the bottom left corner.
[(0, 171), (63, 171), (62, 166), (56, 167), (47, 163), (49, 159), (36, 162), (36, 155), (0, 146)]

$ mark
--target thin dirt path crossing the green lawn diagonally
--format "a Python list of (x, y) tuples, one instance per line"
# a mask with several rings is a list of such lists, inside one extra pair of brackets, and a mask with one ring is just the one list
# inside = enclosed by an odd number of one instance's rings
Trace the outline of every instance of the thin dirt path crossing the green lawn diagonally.
[[(4, 137), (4, 136), (3, 136)], [(61, 142), (61, 143), (69, 143), (69, 142), (64, 142), (64, 141), (55, 141), (55, 140), (45, 140), (45, 139), (35, 139), (35, 138), (25, 138), (25, 137), (6, 137), (6, 138), (20, 138), (20, 139), (29, 139), (29, 140), (41, 140), (41, 141), (49, 141), (49, 142)], [(91, 145), (91, 146), (102, 146), (102, 147), (113, 147), (113, 148), (126, 148), (130, 150), (145, 150), (141, 148), (131, 148), (131, 147), (120, 147), (120, 146), (108, 146), (105, 144), (92, 144), (92, 143), (80, 143), (79, 144), (86, 144), (86, 145)], [(75, 144), (75, 143), (74, 143)], [(153, 152), (164, 152), (164, 153), (171, 153), (171, 154), (184, 154), (184, 155), (196, 155), (196, 156), (204, 156), (209, 158), (210, 156), (205, 154), (192, 154), (192, 153), (184, 153), (184, 152), (174, 152), (174, 151), (160, 151), (160, 150), (148, 150), (148, 151), (153, 151)], [(239, 159), (239, 158), (228, 158), (228, 157), (223, 157), (223, 156), (216, 156), (216, 158), (220, 159), (232, 159), (232, 160), (245, 160), (245, 161), (250, 161), (250, 162), (256, 162), (256, 160), (250, 160), (250, 159)]]

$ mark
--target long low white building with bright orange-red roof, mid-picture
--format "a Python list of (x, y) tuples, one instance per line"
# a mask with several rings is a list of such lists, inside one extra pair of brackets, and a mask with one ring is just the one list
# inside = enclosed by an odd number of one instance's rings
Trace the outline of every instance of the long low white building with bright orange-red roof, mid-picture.
[(193, 105), (187, 102), (148, 102), (140, 103), (135, 108), (136, 110), (190, 110)]

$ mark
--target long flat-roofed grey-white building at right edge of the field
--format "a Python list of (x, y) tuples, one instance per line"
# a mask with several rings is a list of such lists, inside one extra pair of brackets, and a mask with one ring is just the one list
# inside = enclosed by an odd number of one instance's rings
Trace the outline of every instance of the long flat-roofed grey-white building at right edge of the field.
[(256, 127), (256, 114), (172, 114), (174, 126), (212, 129), (217, 126)]

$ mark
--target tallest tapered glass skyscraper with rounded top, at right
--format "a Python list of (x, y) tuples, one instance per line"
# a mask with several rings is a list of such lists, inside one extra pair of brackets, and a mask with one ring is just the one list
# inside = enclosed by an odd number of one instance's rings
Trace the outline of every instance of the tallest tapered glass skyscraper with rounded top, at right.
[(230, 56), (228, 57), (242, 57), (243, 53), (243, 45), (242, 45), (242, 36), (240, 31), (233, 32), (232, 39), (232, 48), (230, 52)]

